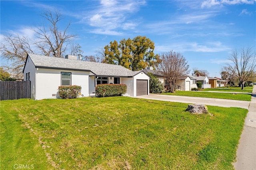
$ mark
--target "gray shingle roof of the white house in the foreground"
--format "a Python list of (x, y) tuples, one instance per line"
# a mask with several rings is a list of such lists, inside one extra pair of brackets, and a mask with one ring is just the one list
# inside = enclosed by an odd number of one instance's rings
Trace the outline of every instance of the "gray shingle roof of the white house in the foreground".
[(141, 71), (131, 71), (121, 65), (79, 61), (73, 59), (48, 57), (45, 55), (28, 54), (36, 68), (67, 69), (76, 71), (91, 71), (98, 76), (130, 77)]

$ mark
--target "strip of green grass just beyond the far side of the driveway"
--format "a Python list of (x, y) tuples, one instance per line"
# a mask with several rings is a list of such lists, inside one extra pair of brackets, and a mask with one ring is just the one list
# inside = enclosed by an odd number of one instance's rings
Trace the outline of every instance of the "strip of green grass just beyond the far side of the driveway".
[(175, 93), (160, 93), (161, 95), (175, 95), (175, 96), (190, 96), (190, 97), (208, 97), (218, 99), (232, 99), (251, 101), (251, 94), (234, 94), (234, 93), (214, 93), (214, 92), (200, 92), (200, 91), (175, 91)]

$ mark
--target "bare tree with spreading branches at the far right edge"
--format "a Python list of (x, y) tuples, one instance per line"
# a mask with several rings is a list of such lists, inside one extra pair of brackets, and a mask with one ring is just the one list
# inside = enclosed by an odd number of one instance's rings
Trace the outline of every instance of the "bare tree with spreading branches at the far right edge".
[(231, 63), (227, 65), (234, 75), (238, 77), (243, 90), (244, 83), (248, 81), (256, 69), (256, 51), (252, 47), (243, 47), (241, 50), (234, 49), (228, 59)]

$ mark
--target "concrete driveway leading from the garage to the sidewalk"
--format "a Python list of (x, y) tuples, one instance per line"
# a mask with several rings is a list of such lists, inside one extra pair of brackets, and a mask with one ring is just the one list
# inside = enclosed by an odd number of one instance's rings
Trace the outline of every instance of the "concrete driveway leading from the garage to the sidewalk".
[(172, 102), (190, 103), (190, 104), (204, 104), (204, 105), (220, 106), (220, 107), (240, 107), (244, 109), (248, 109), (250, 104), (250, 101), (215, 99), (215, 98), (206, 98), (206, 97), (157, 95), (157, 94), (136, 96), (135, 98), (160, 100), (160, 101), (172, 101)]

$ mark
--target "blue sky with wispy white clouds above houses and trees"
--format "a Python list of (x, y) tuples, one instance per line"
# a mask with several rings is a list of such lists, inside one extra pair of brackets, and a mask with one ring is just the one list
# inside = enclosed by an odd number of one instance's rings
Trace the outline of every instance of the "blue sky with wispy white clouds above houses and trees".
[[(146, 36), (155, 54), (182, 53), (193, 68), (220, 77), (234, 48), (256, 47), (256, 0), (164, 1), (0, 1), (0, 34), (18, 33), (30, 38), (30, 27), (44, 22), (43, 12), (58, 10), (63, 26), (71, 22), (84, 55), (111, 41)], [(1, 38), (2, 39), (2, 38)], [(1, 40), (0, 39), (0, 40)]]

